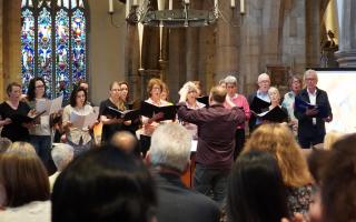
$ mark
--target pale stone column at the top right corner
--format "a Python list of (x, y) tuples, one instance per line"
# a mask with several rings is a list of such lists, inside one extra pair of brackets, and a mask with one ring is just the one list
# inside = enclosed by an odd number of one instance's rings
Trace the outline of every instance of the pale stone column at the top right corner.
[[(339, 7), (339, 4), (338, 4)], [(335, 53), (337, 62), (343, 68), (356, 67), (356, 1), (344, 0), (339, 14), (339, 51)]]

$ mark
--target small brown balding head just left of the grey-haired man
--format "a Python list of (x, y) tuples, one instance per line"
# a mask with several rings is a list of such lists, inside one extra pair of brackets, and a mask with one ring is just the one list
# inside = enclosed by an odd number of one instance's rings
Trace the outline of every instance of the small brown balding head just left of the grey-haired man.
[(134, 153), (139, 150), (137, 139), (128, 131), (116, 132), (111, 138), (111, 144), (127, 153)]

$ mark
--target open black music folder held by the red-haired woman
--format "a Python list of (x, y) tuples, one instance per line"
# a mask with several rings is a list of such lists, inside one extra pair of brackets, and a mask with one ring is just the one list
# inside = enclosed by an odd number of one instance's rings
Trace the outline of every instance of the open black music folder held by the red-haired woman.
[(175, 120), (177, 114), (178, 105), (166, 105), (166, 107), (156, 107), (148, 102), (141, 102), (140, 113), (147, 118), (152, 118), (155, 114), (162, 112), (164, 118), (160, 120)]

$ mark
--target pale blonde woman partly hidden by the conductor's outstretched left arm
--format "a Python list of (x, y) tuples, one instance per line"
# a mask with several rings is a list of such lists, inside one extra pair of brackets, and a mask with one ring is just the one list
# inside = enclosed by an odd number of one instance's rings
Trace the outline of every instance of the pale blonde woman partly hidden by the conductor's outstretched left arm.
[[(186, 102), (187, 108), (192, 109), (192, 110), (197, 110), (197, 109), (201, 109), (205, 107), (204, 103), (198, 102), (197, 101), (197, 97), (198, 97), (198, 88), (196, 87), (196, 84), (194, 82), (186, 82), (182, 88), (179, 90), (178, 92), (180, 94), (180, 99), (179, 102)], [(189, 123), (189, 122), (181, 122), (182, 125), (185, 125), (185, 128), (187, 130), (189, 130), (192, 134), (192, 139), (197, 140), (198, 139), (198, 127), (196, 124)]]

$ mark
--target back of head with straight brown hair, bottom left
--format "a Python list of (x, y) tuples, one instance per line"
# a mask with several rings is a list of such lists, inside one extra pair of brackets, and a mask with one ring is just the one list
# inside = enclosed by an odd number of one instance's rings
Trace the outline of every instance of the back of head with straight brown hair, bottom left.
[(46, 168), (34, 148), (26, 142), (14, 142), (1, 154), (0, 184), (6, 196), (3, 205), (9, 208), (46, 201), (50, 194)]

